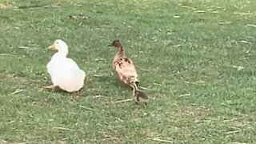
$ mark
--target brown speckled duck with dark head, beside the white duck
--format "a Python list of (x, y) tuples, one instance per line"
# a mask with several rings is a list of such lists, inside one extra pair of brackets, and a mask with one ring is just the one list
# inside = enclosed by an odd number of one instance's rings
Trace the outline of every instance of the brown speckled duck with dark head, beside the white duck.
[(112, 66), (119, 80), (133, 89), (136, 102), (148, 102), (149, 98), (142, 91), (138, 90), (138, 74), (134, 62), (126, 58), (123, 46), (119, 40), (114, 40), (109, 46), (114, 46), (118, 52), (114, 55)]

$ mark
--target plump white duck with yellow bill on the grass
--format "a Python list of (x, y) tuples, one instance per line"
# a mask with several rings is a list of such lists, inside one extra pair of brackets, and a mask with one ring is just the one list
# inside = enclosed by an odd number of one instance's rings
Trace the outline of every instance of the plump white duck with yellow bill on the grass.
[(82, 89), (86, 78), (86, 73), (81, 70), (77, 63), (71, 58), (66, 58), (69, 53), (66, 42), (57, 39), (50, 50), (58, 50), (47, 64), (47, 71), (50, 74), (53, 85), (46, 86), (46, 89), (52, 89), (58, 86), (67, 92), (75, 92)]

